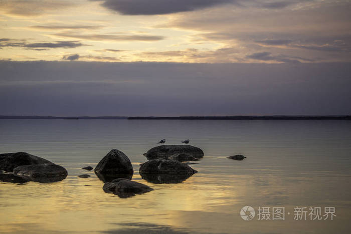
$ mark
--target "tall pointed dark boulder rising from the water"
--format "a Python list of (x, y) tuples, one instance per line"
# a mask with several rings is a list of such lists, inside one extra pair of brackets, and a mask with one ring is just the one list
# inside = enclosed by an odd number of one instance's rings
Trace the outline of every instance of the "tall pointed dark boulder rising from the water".
[(128, 178), (133, 176), (133, 166), (129, 158), (121, 151), (112, 149), (95, 167), (94, 172), (104, 182), (110, 182), (116, 178)]

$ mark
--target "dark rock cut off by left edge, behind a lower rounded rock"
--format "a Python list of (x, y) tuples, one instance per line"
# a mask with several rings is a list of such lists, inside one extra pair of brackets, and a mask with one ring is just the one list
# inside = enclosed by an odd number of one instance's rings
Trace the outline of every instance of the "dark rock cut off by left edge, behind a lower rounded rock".
[(0, 169), (13, 172), (15, 167), (22, 165), (54, 164), (44, 158), (25, 153), (3, 153), (0, 154)]

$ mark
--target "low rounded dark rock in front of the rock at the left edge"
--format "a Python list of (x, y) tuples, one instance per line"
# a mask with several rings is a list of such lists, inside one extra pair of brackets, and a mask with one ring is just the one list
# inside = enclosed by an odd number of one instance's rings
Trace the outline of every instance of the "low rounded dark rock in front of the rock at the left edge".
[(65, 179), (67, 170), (56, 164), (23, 165), (16, 167), (14, 174), (37, 182), (55, 182)]

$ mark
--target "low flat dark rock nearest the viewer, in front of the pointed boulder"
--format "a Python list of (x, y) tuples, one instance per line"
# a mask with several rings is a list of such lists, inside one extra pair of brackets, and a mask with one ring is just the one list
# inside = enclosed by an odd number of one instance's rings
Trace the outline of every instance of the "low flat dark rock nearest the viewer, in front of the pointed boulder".
[(107, 182), (104, 184), (102, 189), (105, 192), (112, 192), (119, 197), (134, 196), (135, 194), (141, 194), (153, 190), (145, 184), (131, 181), (125, 178), (118, 178), (112, 180), (111, 182)]

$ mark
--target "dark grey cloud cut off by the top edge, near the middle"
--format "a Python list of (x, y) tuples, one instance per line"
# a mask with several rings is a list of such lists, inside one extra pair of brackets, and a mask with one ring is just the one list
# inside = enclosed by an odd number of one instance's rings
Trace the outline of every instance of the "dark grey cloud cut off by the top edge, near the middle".
[(233, 0), (105, 0), (101, 6), (122, 15), (163, 15), (191, 12), (226, 3), (233, 3)]

